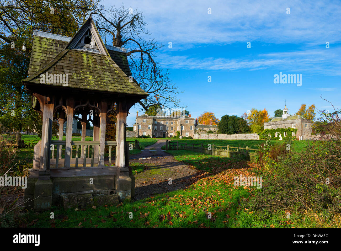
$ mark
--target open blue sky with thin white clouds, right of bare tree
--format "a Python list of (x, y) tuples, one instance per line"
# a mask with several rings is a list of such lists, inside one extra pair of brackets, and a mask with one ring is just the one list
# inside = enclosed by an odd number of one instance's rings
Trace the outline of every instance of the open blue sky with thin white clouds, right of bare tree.
[[(102, 4), (108, 7), (113, 2)], [(180, 104), (187, 105), (192, 117), (205, 111), (219, 119), (225, 114), (241, 116), (251, 108), (266, 108), (273, 116), (276, 109), (284, 108), (284, 99), (290, 114), (302, 103), (332, 112), (321, 94), (341, 108), (340, 1), (131, 0), (123, 4), (143, 12), (151, 33), (146, 39), (165, 44), (156, 61), (170, 70), (172, 82), (183, 92)], [(274, 84), (273, 75), (280, 72), (302, 74), (302, 86)], [(132, 107), (128, 126), (135, 122), (136, 111), (143, 113), (140, 107)]]

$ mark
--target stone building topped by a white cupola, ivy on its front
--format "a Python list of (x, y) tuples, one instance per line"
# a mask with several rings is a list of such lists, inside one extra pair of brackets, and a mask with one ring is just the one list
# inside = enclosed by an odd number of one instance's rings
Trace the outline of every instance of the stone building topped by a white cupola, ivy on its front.
[(265, 122), (264, 130), (277, 128), (296, 128), (297, 133), (293, 133), (293, 136), (296, 136), (297, 139), (305, 139), (313, 137), (311, 135), (312, 125), (313, 121), (310, 119), (303, 118), (300, 115), (290, 115), (289, 109), (285, 106), (282, 117), (275, 117), (269, 122)]

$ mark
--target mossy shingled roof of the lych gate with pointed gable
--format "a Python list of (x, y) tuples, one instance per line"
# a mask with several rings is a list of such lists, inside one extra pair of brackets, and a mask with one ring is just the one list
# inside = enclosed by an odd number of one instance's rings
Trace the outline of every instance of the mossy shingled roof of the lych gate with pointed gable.
[[(91, 38), (90, 44), (85, 40)], [(83, 42), (83, 43), (82, 43)], [(110, 94), (148, 96), (132, 81), (126, 49), (104, 45), (91, 17), (73, 38), (34, 31), (29, 71), (23, 80), (27, 89), (72, 88)], [(41, 75), (68, 74), (68, 85), (41, 81)]]

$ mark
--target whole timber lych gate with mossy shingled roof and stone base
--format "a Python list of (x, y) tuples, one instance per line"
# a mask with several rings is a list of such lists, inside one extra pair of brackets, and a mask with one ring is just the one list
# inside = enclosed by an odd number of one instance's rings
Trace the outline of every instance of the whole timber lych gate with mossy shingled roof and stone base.
[[(43, 128), (34, 147), (26, 205), (46, 209), (75, 192), (130, 198), (134, 178), (125, 154), (126, 120), (130, 107), (148, 94), (131, 80), (126, 50), (104, 45), (91, 17), (73, 38), (34, 31), (28, 75), (23, 83), (42, 115)], [(105, 141), (109, 112), (117, 117), (115, 142)], [(81, 141), (72, 141), (73, 118), (81, 122)], [(59, 123), (57, 141), (51, 140), (53, 120)], [(93, 141), (85, 140), (88, 121), (93, 123)]]

